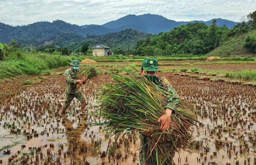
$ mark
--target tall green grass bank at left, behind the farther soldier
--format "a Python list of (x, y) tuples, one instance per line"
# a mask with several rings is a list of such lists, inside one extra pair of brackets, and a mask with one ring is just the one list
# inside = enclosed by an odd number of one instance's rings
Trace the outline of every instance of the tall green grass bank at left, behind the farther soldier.
[(51, 55), (42, 52), (21, 53), (19, 58), (8, 56), (0, 61), (0, 79), (11, 79), (21, 75), (49, 74), (51, 69), (67, 66), (73, 59), (85, 57)]

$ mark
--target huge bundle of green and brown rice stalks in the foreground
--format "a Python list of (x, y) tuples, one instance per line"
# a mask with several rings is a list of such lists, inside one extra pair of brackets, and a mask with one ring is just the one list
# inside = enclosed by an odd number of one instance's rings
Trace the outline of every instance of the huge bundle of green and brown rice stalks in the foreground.
[(151, 126), (154, 132), (147, 136), (150, 153), (148, 159), (157, 164), (172, 162), (172, 151), (185, 149), (189, 145), (192, 141), (191, 127), (198, 122), (189, 108), (189, 103), (181, 100), (175, 113), (171, 115), (169, 130), (160, 131), (157, 120), (165, 113), (166, 98), (171, 94), (136, 73), (129, 72), (129, 76), (110, 76), (114, 81), (110, 85), (105, 84), (101, 94), (100, 113), (106, 121), (94, 124), (102, 124), (106, 138), (115, 135), (115, 141), (121, 133), (144, 132)]

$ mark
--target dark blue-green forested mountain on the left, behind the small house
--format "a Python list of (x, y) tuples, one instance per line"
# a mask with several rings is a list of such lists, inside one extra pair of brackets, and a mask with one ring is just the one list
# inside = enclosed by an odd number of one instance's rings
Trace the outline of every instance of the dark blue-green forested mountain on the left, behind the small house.
[(36, 22), (27, 26), (12, 27), (0, 23), (0, 42), (9, 43), (11, 40), (21, 42), (22, 46), (32, 44), (33, 48), (46, 44), (66, 46), (83, 41), (85, 37), (92, 34), (106, 34), (113, 30), (88, 26), (82, 28), (78, 25), (66, 23), (61, 20), (51, 22)]

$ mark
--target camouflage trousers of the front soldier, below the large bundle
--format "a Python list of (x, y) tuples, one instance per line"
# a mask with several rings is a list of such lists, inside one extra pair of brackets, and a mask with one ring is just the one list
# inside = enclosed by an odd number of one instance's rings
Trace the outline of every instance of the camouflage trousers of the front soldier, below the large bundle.
[[(148, 150), (148, 140), (147, 136), (141, 135), (140, 137), (141, 142), (140, 142), (140, 164), (141, 165), (156, 165), (156, 158), (152, 162), (152, 158), (149, 157), (148, 155), (150, 154), (150, 151)], [(171, 151), (172, 157), (174, 157), (175, 151)], [(172, 165), (172, 162), (165, 162), (163, 165)]]

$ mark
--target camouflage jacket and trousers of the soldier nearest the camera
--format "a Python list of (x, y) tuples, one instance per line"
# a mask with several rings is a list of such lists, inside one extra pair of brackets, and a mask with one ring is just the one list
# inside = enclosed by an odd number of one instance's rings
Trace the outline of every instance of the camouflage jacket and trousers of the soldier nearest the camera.
[[(161, 87), (163, 87), (165, 89), (166, 92), (171, 93), (172, 95), (169, 95), (167, 100), (166, 100), (166, 106), (164, 108), (170, 108), (171, 110), (173, 110), (173, 113), (175, 113), (175, 105), (177, 105), (177, 103), (179, 102), (178, 100), (178, 94), (175, 91), (175, 89), (172, 87), (172, 85), (170, 84), (170, 82), (164, 78), (164, 77), (156, 77), (156, 80), (154, 81), (154, 83), (156, 85), (159, 85)], [(150, 158), (147, 159), (148, 157), (148, 141), (147, 141), (147, 136), (144, 136), (141, 134), (141, 142), (140, 142), (140, 164), (141, 165), (156, 165), (156, 160), (154, 162), (150, 161)], [(170, 152), (171, 155), (174, 157), (175, 151), (172, 149), (172, 151)], [(171, 162), (166, 162), (164, 163), (164, 165), (170, 165)]]

